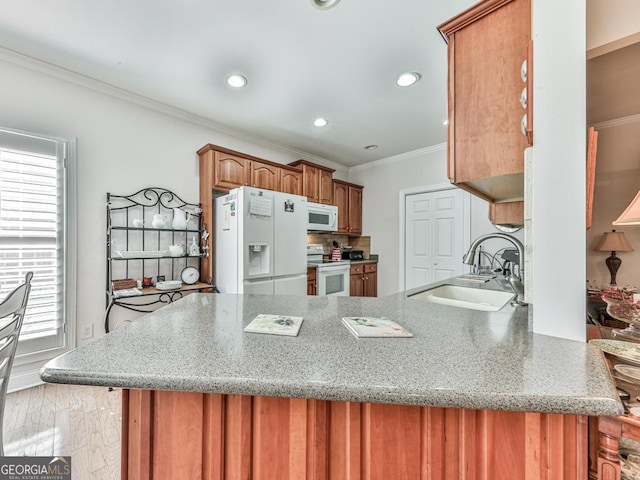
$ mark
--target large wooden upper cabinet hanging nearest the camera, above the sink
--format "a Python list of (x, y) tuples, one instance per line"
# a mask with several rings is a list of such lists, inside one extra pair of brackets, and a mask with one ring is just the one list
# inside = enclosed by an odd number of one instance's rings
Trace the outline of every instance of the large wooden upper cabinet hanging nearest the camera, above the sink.
[(485, 0), (438, 30), (448, 43), (449, 178), (489, 202), (522, 202), (533, 139), (531, 0)]

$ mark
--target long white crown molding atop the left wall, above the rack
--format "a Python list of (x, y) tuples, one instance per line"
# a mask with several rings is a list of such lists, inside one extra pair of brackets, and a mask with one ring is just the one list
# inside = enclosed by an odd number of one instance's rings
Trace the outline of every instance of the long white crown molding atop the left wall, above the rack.
[(214, 122), (213, 120), (209, 120), (205, 117), (201, 117), (199, 115), (195, 115), (193, 113), (187, 112), (186, 110), (172, 107), (171, 105), (162, 103), (158, 100), (154, 100), (152, 98), (145, 97), (144, 95), (139, 95), (137, 93), (130, 92), (129, 90), (125, 90), (123, 88), (110, 85), (108, 83), (102, 82), (100, 80), (96, 80), (95, 78), (89, 77), (87, 75), (83, 75), (73, 70), (69, 70), (68, 68), (64, 68), (64, 67), (55, 65), (53, 63), (45, 62), (43, 60), (30, 57), (28, 55), (22, 54), (20, 52), (11, 50), (6, 47), (0, 47), (0, 60), (4, 60), (8, 63), (12, 63), (14, 65), (28, 68), (30, 70), (34, 70), (34, 71), (43, 73), (45, 75), (49, 75), (51, 77), (55, 77), (57, 79), (73, 83), (74, 85), (78, 85), (80, 87), (94, 90), (104, 95), (109, 95), (111, 97), (118, 98), (125, 102), (132, 103), (134, 105), (138, 105), (140, 107), (147, 108), (149, 110), (163, 113), (165, 115), (169, 115), (174, 118), (179, 118), (181, 120), (193, 123), (201, 127), (210, 128), (212, 130), (215, 130), (216, 132), (223, 133), (225, 135), (236, 137), (238, 139), (245, 140), (245, 141), (250, 141), (262, 147), (273, 148), (286, 153), (290, 153), (294, 156), (304, 158), (305, 160), (312, 160), (314, 162), (320, 163), (327, 167), (334, 168), (336, 170), (347, 169), (347, 167), (343, 164), (336, 163), (331, 160), (327, 160), (326, 158), (318, 157), (309, 152), (298, 150), (288, 145), (283, 145), (280, 143), (273, 142), (263, 137), (259, 137), (256, 135), (243, 132), (241, 130), (230, 128), (226, 125), (223, 125), (218, 122)]

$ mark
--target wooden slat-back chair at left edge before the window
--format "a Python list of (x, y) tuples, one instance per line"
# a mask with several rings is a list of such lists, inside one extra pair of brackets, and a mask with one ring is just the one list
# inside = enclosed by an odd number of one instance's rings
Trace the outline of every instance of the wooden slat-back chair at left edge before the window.
[(22, 328), (24, 312), (31, 291), (33, 273), (28, 272), (22, 285), (13, 290), (0, 303), (0, 456), (4, 456), (2, 440), (2, 426), (4, 419), (4, 404), (7, 398), (7, 386), (13, 358), (18, 346), (18, 336)]

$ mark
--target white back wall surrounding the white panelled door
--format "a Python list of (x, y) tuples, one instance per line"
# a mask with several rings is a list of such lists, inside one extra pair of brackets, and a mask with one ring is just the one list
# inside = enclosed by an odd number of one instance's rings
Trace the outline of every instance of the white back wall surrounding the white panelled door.
[[(412, 187), (449, 184), (446, 145), (437, 145), (349, 169), (349, 181), (364, 186), (363, 235), (371, 236), (371, 253), (380, 255), (378, 296), (399, 290), (399, 192)], [(488, 203), (471, 197), (471, 240), (497, 230), (489, 222)], [(522, 240), (522, 234), (516, 234)], [(468, 245), (468, 243), (466, 243)], [(509, 243), (487, 242), (488, 252)], [(462, 262), (462, 258), (460, 259)]]

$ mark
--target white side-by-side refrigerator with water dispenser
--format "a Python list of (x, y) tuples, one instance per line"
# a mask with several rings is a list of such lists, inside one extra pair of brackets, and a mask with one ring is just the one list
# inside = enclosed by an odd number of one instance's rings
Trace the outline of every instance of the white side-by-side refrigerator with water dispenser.
[(307, 198), (253, 187), (215, 201), (221, 293), (307, 294)]

